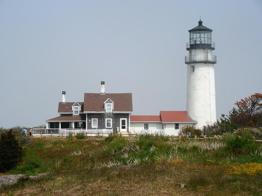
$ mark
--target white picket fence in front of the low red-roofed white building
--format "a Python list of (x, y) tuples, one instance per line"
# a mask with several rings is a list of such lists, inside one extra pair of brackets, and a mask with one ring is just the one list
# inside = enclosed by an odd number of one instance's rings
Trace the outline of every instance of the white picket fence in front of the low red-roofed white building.
[(179, 129), (136, 129), (136, 128), (131, 128), (131, 132), (137, 135), (141, 134), (153, 134), (153, 135), (174, 135), (178, 136)]

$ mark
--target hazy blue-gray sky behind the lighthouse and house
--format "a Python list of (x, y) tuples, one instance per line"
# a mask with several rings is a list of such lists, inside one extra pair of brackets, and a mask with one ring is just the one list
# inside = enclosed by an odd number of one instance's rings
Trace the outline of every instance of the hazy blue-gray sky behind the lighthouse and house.
[(188, 30), (213, 29), (217, 118), (262, 93), (261, 1), (0, 1), (0, 127), (36, 126), (84, 93), (133, 96), (134, 115), (186, 110)]

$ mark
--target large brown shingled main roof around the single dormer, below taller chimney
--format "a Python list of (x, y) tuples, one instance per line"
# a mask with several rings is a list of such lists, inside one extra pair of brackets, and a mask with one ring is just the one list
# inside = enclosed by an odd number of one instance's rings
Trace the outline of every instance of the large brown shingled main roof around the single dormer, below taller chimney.
[(132, 93), (85, 93), (84, 112), (105, 111), (104, 102), (108, 98), (114, 102), (113, 112), (133, 112)]

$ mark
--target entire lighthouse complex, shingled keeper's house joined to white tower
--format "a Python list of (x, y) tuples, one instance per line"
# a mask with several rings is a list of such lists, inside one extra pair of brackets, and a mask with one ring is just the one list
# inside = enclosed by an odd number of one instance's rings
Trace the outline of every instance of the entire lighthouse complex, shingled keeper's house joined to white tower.
[(215, 71), (216, 56), (212, 55), (215, 43), (211, 41), (213, 30), (202, 25), (189, 31), (185, 56), (187, 64), (186, 111), (160, 111), (157, 116), (132, 115), (132, 93), (84, 93), (83, 102), (62, 102), (59, 116), (47, 120), (47, 129), (110, 129), (112, 132), (143, 133), (145, 131), (172, 135), (186, 125), (202, 128), (216, 121)]

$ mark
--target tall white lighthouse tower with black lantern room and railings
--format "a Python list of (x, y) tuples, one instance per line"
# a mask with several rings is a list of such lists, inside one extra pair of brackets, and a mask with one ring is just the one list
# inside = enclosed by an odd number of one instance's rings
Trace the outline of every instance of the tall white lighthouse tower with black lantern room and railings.
[(189, 30), (189, 56), (185, 56), (187, 114), (197, 121), (198, 128), (217, 120), (214, 72), (217, 57), (212, 55), (212, 51), (215, 50), (215, 43), (211, 42), (213, 30), (202, 23), (200, 19), (198, 26)]

